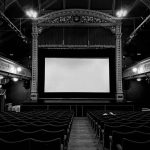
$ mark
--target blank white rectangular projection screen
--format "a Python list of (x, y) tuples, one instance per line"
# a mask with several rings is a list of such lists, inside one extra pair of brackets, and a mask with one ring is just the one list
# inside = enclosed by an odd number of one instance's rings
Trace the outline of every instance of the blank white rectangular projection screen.
[(45, 58), (44, 92), (109, 93), (109, 58)]

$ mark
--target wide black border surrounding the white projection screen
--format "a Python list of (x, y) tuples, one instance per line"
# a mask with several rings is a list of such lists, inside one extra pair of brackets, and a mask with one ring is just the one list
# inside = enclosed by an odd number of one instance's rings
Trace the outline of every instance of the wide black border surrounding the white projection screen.
[[(108, 58), (110, 92), (44, 92), (45, 58)], [(38, 53), (38, 93), (39, 98), (114, 98), (116, 91), (115, 50), (109, 49), (44, 49)]]

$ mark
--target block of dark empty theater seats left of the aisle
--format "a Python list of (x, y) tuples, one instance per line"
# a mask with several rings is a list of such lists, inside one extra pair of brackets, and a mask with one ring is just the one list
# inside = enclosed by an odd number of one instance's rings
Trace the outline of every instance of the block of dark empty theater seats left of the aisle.
[(0, 146), (6, 150), (66, 150), (74, 112), (0, 113)]

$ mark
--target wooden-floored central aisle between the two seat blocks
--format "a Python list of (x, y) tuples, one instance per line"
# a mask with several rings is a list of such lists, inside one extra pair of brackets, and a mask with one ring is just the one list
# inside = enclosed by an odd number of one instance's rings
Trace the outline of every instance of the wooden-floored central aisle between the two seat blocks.
[(68, 150), (101, 150), (87, 117), (75, 117)]

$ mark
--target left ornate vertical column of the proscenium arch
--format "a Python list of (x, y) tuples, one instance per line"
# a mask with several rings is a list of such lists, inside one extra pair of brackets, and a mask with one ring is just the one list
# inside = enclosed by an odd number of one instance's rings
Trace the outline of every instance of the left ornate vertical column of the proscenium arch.
[(31, 100), (38, 100), (38, 27), (37, 20), (32, 23), (32, 82)]

